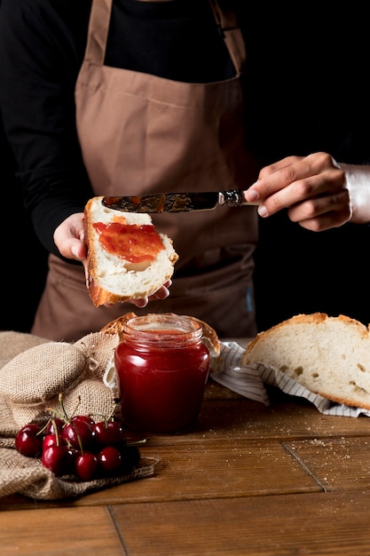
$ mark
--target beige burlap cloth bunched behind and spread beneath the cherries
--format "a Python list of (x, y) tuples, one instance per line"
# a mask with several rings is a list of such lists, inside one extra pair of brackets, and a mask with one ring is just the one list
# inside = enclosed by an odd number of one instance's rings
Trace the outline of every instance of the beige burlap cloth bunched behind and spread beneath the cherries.
[(154, 474), (156, 460), (143, 458), (132, 473), (94, 481), (57, 478), (41, 461), (15, 449), (15, 435), (31, 421), (60, 410), (67, 415), (119, 411), (117, 392), (103, 377), (112, 361), (118, 334), (92, 333), (75, 342), (51, 342), (30, 334), (0, 332), (0, 496), (19, 493), (52, 500), (80, 496)]

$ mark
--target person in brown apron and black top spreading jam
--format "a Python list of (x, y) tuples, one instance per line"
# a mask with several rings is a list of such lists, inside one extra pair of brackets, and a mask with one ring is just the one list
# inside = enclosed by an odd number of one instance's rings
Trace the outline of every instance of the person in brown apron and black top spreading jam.
[[(258, 218), (286, 211), (313, 233), (370, 222), (368, 85), (334, 78), (355, 46), (338, 12), (304, 12), (314, 41), (298, 9), (295, 23), (287, 15), (235, 0), (2, 0), (0, 109), (50, 252), (32, 333), (74, 341), (134, 308), (254, 336)], [(92, 306), (91, 196), (228, 188), (258, 209), (155, 215), (179, 254), (173, 283)]]

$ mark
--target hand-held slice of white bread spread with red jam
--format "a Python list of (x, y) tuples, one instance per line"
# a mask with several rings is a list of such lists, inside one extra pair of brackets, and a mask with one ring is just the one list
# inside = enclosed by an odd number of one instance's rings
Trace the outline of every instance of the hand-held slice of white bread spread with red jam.
[[(173, 274), (178, 255), (172, 240), (166, 234), (155, 232), (149, 214), (108, 209), (101, 203), (102, 198), (92, 197), (84, 210), (88, 290), (92, 303), (100, 306), (146, 298), (159, 290)], [(122, 225), (124, 228), (128, 238), (124, 247), (119, 242), (117, 230), (112, 232), (113, 226), (108, 237), (111, 248), (107, 250), (102, 244), (101, 240), (106, 239), (106, 230), (110, 225)], [(149, 239), (154, 243), (150, 243)], [(121, 251), (116, 249), (117, 245)]]

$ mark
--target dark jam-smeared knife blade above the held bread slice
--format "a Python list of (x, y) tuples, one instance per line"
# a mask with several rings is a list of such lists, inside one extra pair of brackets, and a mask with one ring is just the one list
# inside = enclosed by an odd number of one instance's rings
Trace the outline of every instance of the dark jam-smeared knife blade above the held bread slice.
[(217, 206), (241, 207), (257, 205), (244, 199), (243, 191), (210, 191), (195, 193), (154, 193), (123, 197), (103, 197), (102, 203), (109, 209), (123, 212), (188, 212), (190, 210), (214, 210)]

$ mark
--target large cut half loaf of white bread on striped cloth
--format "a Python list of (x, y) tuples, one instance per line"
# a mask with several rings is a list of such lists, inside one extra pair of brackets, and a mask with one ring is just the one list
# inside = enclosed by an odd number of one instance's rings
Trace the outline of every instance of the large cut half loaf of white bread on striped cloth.
[(348, 316), (297, 314), (279, 322), (248, 344), (242, 364), (251, 363), (278, 369), (328, 400), (370, 409), (370, 331)]

